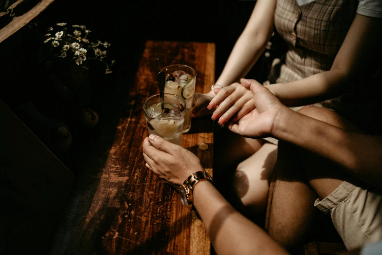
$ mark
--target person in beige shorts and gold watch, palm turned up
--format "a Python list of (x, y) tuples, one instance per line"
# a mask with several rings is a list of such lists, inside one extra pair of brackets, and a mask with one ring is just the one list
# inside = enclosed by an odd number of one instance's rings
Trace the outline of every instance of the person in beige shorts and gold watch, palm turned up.
[(241, 85), (255, 107), (234, 112), (225, 126), (243, 137), (280, 141), (267, 232), (221, 195), (195, 154), (155, 135), (142, 144), (146, 167), (160, 178), (176, 185), (196, 180), (192, 201), (183, 202), (201, 216), (216, 253), (287, 254), (304, 241), (315, 207), (331, 215), (349, 251), (359, 254), (382, 240), (382, 136), (363, 133), (326, 108), (294, 111), (254, 80)]

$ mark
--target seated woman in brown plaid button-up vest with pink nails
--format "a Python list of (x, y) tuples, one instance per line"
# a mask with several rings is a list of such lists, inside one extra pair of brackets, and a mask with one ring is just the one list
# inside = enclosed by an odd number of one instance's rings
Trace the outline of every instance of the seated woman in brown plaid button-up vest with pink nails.
[[(315, 0), (256, 1), (214, 87), (241, 97), (231, 84), (259, 67), (255, 64), (275, 33), (287, 47), (265, 74), (268, 80), (263, 85), (281, 103), (294, 110), (306, 105), (329, 108), (368, 133), (379, 132), (381, 126), (375, 117), (379, 109), (375, 106), (382, 92), (381, 77), (377, 76), (382, 71), (381, 8), (382, 2), (377, 0), (325, 4)], [(230, 97), (235, 106), (224, 112), (215, 109), (214, 97), (214, 89), (195, 93), (192, 116), (211, 115), (226, 126), (230, 111), (246, 100)], [(253, 101), (245, 102), (241, 111), (253, 107)], [(226, 128), (214, 133), (214, 178), (224, 187), (220, 189), (223, 195), (238, 206), (242, 203), (242, 211), (254, 220), (262, 218), (266, 209), (277, 145), (274, 137), (252, 139)], [(247, 186), (248, 191), (243, 189)]]

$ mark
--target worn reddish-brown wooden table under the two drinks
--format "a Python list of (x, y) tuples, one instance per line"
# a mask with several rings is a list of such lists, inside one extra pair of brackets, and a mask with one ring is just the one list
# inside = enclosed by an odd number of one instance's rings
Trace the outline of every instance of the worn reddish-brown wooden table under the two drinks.
[[(143, 103), (159, 93), (161, 67), (187, 64), (196, 69), (196, 92), (215, 82), (215, 44), (148, 41), (130, 88), (125, 114), (101, 168), (86, 166), (72, 189), (49, 254), (198, 254), (211, 246), (202, 221), (181, 204), (180, 196), (145, 167), (142, 141), (147, 136)], [(127, 86), (127, 85), (126, 85)], [(208, 149), (200, 149), (205, 143)], [(212, 174), (213, 122), (193, 119), (182, 147), (195, 153)]]

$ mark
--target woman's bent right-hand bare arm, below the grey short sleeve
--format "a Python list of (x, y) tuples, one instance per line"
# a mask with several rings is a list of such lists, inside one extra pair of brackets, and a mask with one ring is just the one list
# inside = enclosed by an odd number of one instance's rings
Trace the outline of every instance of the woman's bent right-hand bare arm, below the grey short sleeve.
[(356, 14), (329, 71), (287, 84), (267, 85), (286, 106), (303, 106), (345, 94), (362, 85), (362, 77), (373, 75), (372, 60), (381, 56), (382, 19)]

